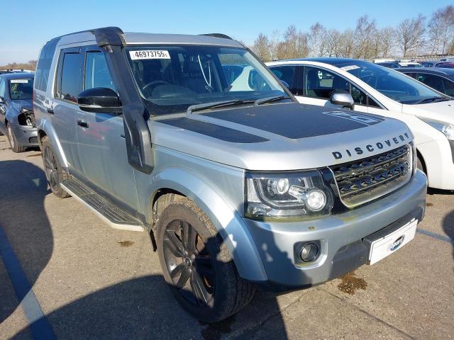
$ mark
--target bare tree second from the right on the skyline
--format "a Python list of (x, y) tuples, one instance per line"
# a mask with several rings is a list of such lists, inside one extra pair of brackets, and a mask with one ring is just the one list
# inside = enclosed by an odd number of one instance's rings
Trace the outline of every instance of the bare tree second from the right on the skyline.
[(417, 18), (405, 19), (397, 27), (397, 42), (404, 57), (407, 57), (409, 52), (415, 50), (418, 54), (418, 49), (424, 42), (424, 17), (419, 14)]

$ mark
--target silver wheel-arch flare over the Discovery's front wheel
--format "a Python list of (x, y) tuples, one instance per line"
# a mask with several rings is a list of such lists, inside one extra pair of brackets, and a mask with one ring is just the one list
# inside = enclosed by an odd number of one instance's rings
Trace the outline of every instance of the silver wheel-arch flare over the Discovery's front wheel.
[[(223, 198), (214, 183), (207, 183), (189, 169), (177, 167), (160, 171), (153, 176), (151, 183), (152, 193), (161, 188), (179, 191), (205, 212), (231, 252), (241, 278), (267, 280), (260, 254), (248, 228), (236, 208)], [(153, 197), (153, 194), (150, 197)]]

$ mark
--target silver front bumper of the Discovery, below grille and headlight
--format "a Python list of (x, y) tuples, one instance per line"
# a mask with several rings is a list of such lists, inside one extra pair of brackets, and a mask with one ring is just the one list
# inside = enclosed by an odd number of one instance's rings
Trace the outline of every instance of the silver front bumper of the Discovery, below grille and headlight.
[[(397, 192), (341, 215), (306, 222), (245, 219), (268, 277), (259, 285), (275, 291), (306, 288), (358, 268), (368, 260), (366, 237), (386, 227), (403, 226), (413, 217), (422, 220), (426, 189), (426, 176), (417, 171)], [(294, 244), (315, 240), (321, 242), (319, 258), (296, 264)]]

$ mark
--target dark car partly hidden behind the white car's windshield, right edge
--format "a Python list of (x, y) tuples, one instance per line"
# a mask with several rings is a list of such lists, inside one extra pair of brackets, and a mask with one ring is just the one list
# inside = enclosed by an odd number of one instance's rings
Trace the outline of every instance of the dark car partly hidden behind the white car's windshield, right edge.
[(445, 94), (454, 96), (454, 69), (431, 67), (427, 68), (406, 68), (397, 71), (421, 81), (421, 83), (431, 86), (432, 89)]

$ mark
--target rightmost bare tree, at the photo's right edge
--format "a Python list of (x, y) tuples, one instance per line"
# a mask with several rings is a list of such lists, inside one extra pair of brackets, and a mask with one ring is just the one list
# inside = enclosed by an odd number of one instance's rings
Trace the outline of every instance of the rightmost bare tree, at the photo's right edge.
[(427, 29), (431, 54), (444, 55), (448, 52), (454, 35), (454, 6), (446, 6), (433, 13)]

